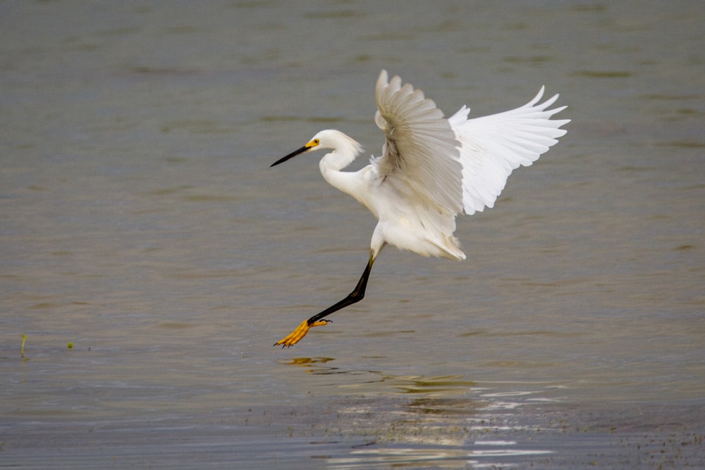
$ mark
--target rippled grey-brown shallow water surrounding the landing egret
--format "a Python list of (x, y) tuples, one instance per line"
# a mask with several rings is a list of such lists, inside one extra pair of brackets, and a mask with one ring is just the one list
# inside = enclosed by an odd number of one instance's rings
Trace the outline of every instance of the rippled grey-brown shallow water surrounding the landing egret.
[[(0, 466), (705, 466), (704, 10), (2, 4)], [(466, 261), (386, 249), (272, 348), (374, 218), (269, 164), (379, 153), (383, 67), (471, 116), (546, 85), (568, 135)]]

